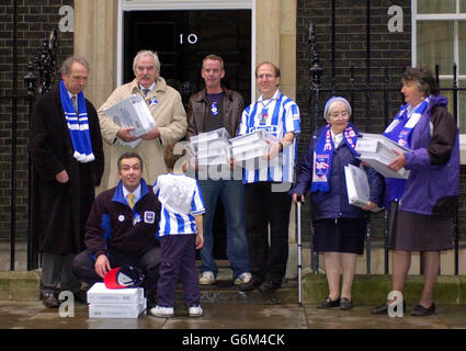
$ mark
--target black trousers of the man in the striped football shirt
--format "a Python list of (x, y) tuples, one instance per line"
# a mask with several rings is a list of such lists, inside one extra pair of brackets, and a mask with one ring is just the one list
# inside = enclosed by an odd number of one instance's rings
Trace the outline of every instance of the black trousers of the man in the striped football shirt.
[(280, 285), (288, 260), (292, 199), (286, 192), (272, 190), (272, 183), (268, 182), (246, 184), (246, 230), (254, 282), (272, 281)]

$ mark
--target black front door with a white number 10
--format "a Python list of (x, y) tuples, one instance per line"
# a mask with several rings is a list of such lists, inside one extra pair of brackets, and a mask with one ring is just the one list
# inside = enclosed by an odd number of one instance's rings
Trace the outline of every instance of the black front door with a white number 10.
[[(182, 93), (190, 82), (192, 92), (204, 88), (202, 60), (217, 54), (225, 61), (224, 84), (251, 99), (251, 11), (128, 11), (124, 13), (124, 82), (134, 79), (133, 59), (140, 49), (157, 52), (160, 76)], [(185, 86), (185, 84), (184, 84)], [(226, 259), (225, 211), (218, 201), (214, 220), (214, 256)]]

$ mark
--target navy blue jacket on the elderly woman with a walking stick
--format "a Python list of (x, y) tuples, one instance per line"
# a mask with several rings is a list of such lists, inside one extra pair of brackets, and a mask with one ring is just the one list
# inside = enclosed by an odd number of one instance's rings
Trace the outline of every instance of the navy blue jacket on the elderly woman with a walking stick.
[[(296, 185), (291, 193), (306, 194), (310, 191), (312, 182), (314, 149), (323, 127), (318, 129), (312, 136), (306, 154), (302, 158), (298, 170)], [(357, 131), (355, 131), (357, 133)], [(312, 219), (323, 218), (361, 218), (364, 211), (361, 207), (350, 205), (348, 202), (346, 181), (344, 178), (344, 166), (354, 165), (360, 167), (361, 161), (351, 152), (344, 141), (340, 143), (333, 151), (332, 168), (330, 170), (330, 191), (312, 193)], [(384, 191), (384, 179), (372, 167), (366, 167), (366, 173), (371, 188), (370, 201), (382, 204)]]

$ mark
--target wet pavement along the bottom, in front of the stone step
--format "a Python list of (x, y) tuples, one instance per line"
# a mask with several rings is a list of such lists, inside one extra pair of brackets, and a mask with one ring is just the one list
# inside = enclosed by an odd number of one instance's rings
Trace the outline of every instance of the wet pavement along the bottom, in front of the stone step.
[(183, 305), (175, 316), (137, 319), (89, 318), (88, 306), (45, 308), (42, 302), (0, 302), (0, 329), (466, 329), (466, 306), (437, 306), (429, 317), (372, 315), (373, 306), (317, 309), (297, 304), (211, 304), (204, 315), (189, 317)]

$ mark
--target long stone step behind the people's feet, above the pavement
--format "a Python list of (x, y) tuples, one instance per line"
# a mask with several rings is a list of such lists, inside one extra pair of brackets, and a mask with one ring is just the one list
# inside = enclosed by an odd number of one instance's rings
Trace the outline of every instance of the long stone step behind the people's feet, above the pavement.
[[(230, 273), (225, 273), (230, 274)], [(0, 301), (36, 301), (41, 271), (0, 272)], [(239, 292), (231, 279), (219, 279), (214, 285), (200, 285), (201, 301), (225, 304), (293, 304), (298, 302), (296, 279), (287, 280), (282, 288), (264, 296), (259, 291)], [(405, 299), (416, 305), (423, 287), (423, 276), (410, 275), (405, 287)], [(315, 304), (328, 294), (325, 274), (306, 273), (303, 276), (303, 303)], [(379, 305), (391, 290), (391, 275), (363, 274), (354, 278), (353, 302), (357, 305)], [(182, 302), (181, 284), (177, 301)], [(466, 276), (439, 276), (435, 287), (437, 304), (466, 304)]]

